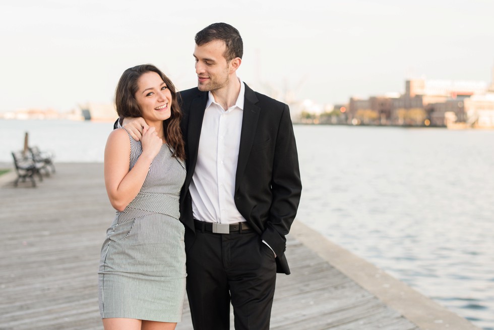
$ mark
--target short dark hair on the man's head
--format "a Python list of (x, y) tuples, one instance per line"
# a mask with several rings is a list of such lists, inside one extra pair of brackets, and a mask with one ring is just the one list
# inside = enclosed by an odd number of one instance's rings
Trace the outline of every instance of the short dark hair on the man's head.
[(224, 57), (227, 62), (242, 58), (243, 42), (237, 29), (226, 23), (213, 23), (196, 34), (196, 44), (202, 46), (208, 42), (221, 40), (226, 45)]

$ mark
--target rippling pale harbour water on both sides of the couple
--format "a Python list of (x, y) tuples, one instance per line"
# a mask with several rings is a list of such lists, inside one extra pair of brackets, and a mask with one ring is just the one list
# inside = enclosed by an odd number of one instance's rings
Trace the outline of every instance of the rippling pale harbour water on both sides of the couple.
[[(0, 162), (31, 145), (102, 161), (112, 123), (0, 121)], [(494, 131), (295, 126), (297, 221), (494, 329)]]

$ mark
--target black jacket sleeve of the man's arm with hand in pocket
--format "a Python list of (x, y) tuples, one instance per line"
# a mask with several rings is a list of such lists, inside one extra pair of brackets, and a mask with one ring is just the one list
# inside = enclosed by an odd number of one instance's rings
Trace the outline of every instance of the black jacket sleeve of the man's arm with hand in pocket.
[(277, 256), (283, 255), (286, 249), (285, 235), (290, 231), (297, 214), (301, 191), (295, 135), (288, 105), (285, 104), (274, 150), (272, 203), (266, 229), (262, 234), (262, 239), (269, 244)]

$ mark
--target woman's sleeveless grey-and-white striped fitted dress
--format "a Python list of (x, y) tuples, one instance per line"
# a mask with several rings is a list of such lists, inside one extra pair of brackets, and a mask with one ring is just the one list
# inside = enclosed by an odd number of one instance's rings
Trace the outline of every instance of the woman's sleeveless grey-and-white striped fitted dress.
[[(129, 139), (132, 169), (142, 145)], [(116, 212), (101, 248), (101, 318), (181, 321), (187, 273), (178, 207), (185, 177), (185, 164), (163, 144), (139, 194)]]

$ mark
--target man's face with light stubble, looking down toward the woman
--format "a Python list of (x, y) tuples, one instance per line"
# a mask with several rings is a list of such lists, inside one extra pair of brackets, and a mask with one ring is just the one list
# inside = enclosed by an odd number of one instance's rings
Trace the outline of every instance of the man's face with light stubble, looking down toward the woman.
[(223, 41), (213, 40), (202, 46), (196, 45), (197, 87), (200, 91), (215, 91), (228, 86), (230, 62), (226, 62)]

